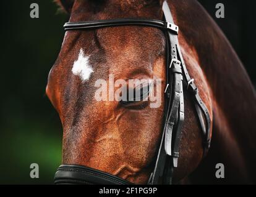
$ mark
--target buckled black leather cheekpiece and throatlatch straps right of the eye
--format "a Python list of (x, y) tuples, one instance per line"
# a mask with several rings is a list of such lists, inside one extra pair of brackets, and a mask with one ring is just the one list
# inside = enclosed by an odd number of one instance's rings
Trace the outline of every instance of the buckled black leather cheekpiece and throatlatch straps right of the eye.
[[(169, 9), (168, 3), (163, 2), (163, 13), (166, 22), (174, 23)], [(169, 68), (173, 68), (175, 73), (172, 73), (173, 84), (169, 86), (167, 80), (166, 89), (167, 97), (169, 98), (169, 92), (172, 92), (172, 98), (168, 100), (167, 117), (164, 121), (164, 131), (161, 137), (160, 148), (156, 158), (155, 169), (150, 176), (149, 184), (157, 184), (160, 182), (160, 177), (163, 177), (162, 183), (173, 183), (173, 171), (174, 167), (177, 167), (177, 158), (179, 158), (179, 142), (181, 140), (182, 124), (184, 122), (184, 94), (182, 89), (182, 81), (184, 76), (184, 82), (187, 84), (188, 89), (192, 92), (195, 102), (195, 109), (197, 110), (198, 119), (203, 131), (203, 156), (206, 155), (208, 148), (210, 148), (210, 115), (208, 113), (205, 104), (203, 103), (198, 89), (195, 86), (194, 79), (191, 79), (187, 71), (184, 59), (181, 53), (181, 47), (177, 34), (168, 31), (168, 49), (167, 60), (169, 61), (169, 54), (171, 54), (171, 63)], [(178, 62), (178, 63), (177, 63)], [(167, 63), (169, 65), (169, 63)], [(168, 69), (168, 73), (170, 73)], [(171, 70), (171, 71), (173, 71)], [(181, 71), (182, 70), (182, 71)], [(171, 74), (168, 74), (167, 79)], [(169, 79), (170, 80), (170, 79)], [(181, 84), (181, 86), (180, 86)], [(171, 104), (172, 102), (172, 104)], [(169, 107), (171, 106), (171, 113), (169, 113)], [(175, 121), (176, 118), (176, 122)], [(176, 132), (174, 133), (174, 127)]]

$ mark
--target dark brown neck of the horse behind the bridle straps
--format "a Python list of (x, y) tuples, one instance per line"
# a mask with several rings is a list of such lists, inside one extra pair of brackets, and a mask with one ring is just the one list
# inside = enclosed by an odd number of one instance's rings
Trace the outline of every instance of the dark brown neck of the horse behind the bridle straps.
[(228, 39), (197, 1), (171, 3), (174, 20), (197, 51), (211, 88), (213, 137), (217, 140), (213, 143), (221, 143), (221, 154), (234, 157), (231, 160), (237, 163), (235, 166), (255, 174), (256, 94), (252, 82)]

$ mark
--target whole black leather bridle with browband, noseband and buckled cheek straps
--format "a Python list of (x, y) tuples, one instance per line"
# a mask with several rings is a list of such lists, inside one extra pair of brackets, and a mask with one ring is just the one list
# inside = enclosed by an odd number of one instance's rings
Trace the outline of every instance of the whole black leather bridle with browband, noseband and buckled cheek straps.
[[(139, 25), (151, 26), (161, 29), (166, 34), (166, 97), (164, 113), (164, 129), (161, 136), (160, 147), (156, 157), (153, 172), (148, 184), (172, 184), (173, 171), (177, 167), (179, 158), (179, 142), (182, 135), (184, 121), (184, 94), (183, 86), (191, 92), (198, 119), (203, 131), (203, 155), (210, 148), (210, 115), (200, 95), (194, 79), (187, 71), (181, 48), (177, 38), (179, 27), (174, 25), (168, 3), (163, 2), (164, 21), (145, 18), (120, 18), (112, 20), (94, 20), (87, 22), (68, 22), (64, 25), (69, 30), (91, 30), (111, 26)], [(162, 179), (160, 179), (162, 178)], [(54, 183), (82, 183), (82, 184), (132, 184), (124, 179), (98, 171), (90, 167), (79, 165), (61, 165), (54, 177)]]

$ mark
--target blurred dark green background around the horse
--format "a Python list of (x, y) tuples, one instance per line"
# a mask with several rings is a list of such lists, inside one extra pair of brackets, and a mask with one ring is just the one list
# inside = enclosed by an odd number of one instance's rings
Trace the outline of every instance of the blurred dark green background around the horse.
[[(189, 0), (187, 0), (189, 1)], [(30, 4), (40, 18), (30, 18)], [(220, 25), (256, 84), (256, 1), (200, 0)], [(225, 18), (215, 17), (222, 2)], [(61, 163), (62, 128), (45, 95), (47, 77), (64, 36), (68, 16), (52, 0), (1, 1), (0, 183), (53, 183)], [(30, 179), (30, 164), (40, 179)]]

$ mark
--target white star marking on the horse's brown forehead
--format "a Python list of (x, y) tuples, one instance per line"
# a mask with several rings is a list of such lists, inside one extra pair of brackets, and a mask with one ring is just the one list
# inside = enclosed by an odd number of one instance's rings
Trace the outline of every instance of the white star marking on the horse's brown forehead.
[(89, 63), (90, 56), (86, 56), (83, 49), (80, 49), (79, 57), (72, 66), (72, 73), (79, 76), (82, 82), (88, 81), (93, 73), (92, 66)]

